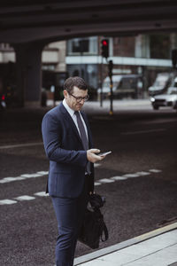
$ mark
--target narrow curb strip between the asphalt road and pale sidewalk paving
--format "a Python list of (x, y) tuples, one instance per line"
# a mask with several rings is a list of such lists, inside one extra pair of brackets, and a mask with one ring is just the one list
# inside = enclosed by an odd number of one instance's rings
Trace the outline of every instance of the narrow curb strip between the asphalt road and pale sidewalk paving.
[(150, 231), (150, 232), (142, 234), (138, 237), (135, 237), (134, 239), (128, 239), (128, 240), (123, 241), (119, 244), (104, 247), (104, 248), (99, 249), (95, 252), (85, 254), (85, 255), (82, 255), (81, 257), (75, 258), (73, 265), (76, 266), (76, 265), (80, 265), (81, 263), (84, 263), (84, 262), (92, 261), (98, 257), (104, 256), (105, 254), (111, 254), (115, 251), (126, 248), (127, 246), (132, 246), (132, 245), (135, 245), (135, 244), (140, 243), (142, 241), (145, 241), (147, 239), (152, 239), (152, 238), (154, 238), (158, 235), (161, 235), (167, 231), (173, 231), (175, 229), (177, 229), (177, 223), (172, 223), (172, 224), (166, 225), (166, 226), (158, 228), (154, 231)]

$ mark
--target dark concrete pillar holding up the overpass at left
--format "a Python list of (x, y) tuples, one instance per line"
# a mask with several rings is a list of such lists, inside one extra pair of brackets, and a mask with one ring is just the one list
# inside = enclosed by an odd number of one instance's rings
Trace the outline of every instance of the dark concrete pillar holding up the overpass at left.
[(42, 43), (15, 44), (19, 106), (40, 106)]

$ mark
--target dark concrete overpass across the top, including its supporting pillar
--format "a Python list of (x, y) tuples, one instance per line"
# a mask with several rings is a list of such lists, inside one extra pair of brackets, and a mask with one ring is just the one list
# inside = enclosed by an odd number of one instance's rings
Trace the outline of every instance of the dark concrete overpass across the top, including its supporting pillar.
[(86, 35), (175, 32), (176, 14), (176, 0), (2, 0), (0, 43), (11, 43), (16, 51), (19, 105), (39, 103), (47, 43)]

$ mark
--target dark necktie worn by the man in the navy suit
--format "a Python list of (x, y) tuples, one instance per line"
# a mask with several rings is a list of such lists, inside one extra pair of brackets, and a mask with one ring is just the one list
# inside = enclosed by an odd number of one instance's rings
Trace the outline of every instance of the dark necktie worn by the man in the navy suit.
[[(76, 115), (78, 128), (80, 129), (81, 142), (82, 142), (83, 148), (85, 151), (87, 151), (89, 150), (89, 141), (86, 135), (86, 130), (84, 129), (83, 122), (81, 121), (81, 115), (78, 111), (75, 111), (74, 114)], [(88, 162), (87, 164), (87, 172), (88, 174), (90, 174), (90, 162)]]

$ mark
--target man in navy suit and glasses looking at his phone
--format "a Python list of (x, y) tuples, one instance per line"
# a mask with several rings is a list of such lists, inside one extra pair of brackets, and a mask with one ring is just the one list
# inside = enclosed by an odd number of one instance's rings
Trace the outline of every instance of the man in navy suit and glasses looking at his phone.
[(94, 192), (94, 162), (103, 160), (93, 149), (89, 122), (81, 112), (89, 99), (88, 86), (80, 77), (64, 83), (63, 102), (42, 120), (45, 152), (50, 160), (48, 190), (58, 220), (57, 266), (73, 266), (83, 215)]

